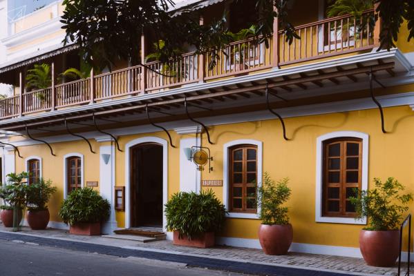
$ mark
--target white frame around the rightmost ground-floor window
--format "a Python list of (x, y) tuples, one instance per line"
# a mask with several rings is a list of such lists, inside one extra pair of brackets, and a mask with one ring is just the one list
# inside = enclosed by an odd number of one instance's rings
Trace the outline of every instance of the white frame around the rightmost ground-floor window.
[(321, 135), (317, 138), (317, 177), (315, 197), (315, 221), (333, 224), (366, 224), (366, 217), (354, 219), (352, 217), (323, 217), (322, 195), (323, 195), (323, 142), (330, 139), (350, 137), (362, 139), (362, 168), (361, 168), (361, 190), (368, 189), (368, 146), (369, 136), (363, 132), (337, 131)]

